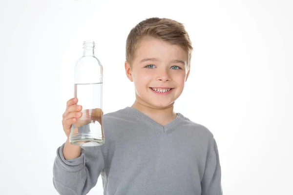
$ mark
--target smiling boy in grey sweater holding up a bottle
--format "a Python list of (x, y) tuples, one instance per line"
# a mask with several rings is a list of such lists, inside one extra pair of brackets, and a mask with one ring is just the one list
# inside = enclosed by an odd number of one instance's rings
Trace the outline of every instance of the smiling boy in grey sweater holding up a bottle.
[[(151, 18), (126, 41), (126, 76), (135, 85), (131, 107), (103, 116), (105, 144), (58, 148), (53, 184), (61, 195), (86, 195), (102, 176), (104, 195), (222, 195), (216, 141), (203, 125), (173, 111), (190, 70), (184, 26)], [(63, 115), (67, 137), (81, 117), (77, 99)]]

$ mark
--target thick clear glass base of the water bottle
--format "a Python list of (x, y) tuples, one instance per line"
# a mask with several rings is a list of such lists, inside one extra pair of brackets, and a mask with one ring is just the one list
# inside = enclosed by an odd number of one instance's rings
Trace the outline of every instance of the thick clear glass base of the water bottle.
[(105, 139), (95, 138), (91, 135), (72, 135), (69, 137), (69, 142), (75, 146), (101, 146), (105, 143)]

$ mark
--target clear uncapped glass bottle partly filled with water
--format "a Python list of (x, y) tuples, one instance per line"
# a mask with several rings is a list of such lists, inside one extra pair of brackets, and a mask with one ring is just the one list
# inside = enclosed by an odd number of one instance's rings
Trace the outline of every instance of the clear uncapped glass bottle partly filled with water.
[(99, 146), (105, 143), (103, 130), (103, 66), (95, 57), (95, 42), (84, 41), (84, 55), (74, 70), (74, 97), (83, 107), (82, 117), (72, 124), (69, 142), (77, 146)]

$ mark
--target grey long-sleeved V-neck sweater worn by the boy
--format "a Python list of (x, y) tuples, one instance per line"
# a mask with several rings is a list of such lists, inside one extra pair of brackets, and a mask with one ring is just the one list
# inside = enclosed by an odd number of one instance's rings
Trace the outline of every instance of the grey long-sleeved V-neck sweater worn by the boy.
[(60, 195), (86, 195), (101, 176), (104, 195), (222, 195), (216, 141), (178, 113), (162, 126), (132, 107), (103, 116), (105, 144), (65, 160), (57, 149), (53, 185)]

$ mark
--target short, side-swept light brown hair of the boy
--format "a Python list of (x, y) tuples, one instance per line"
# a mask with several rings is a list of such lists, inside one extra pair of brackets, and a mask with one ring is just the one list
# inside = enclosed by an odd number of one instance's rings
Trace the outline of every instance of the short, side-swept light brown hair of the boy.
[(188, 69), (192, 54), (192, 45), (182, 23), (166, 18), (149, 18), (139, 22), (131, 29), (126, 39), (126, 61), (132, 64), (138, 43), (145, 37), (152, 37), (179, 45), (188, 54)]

